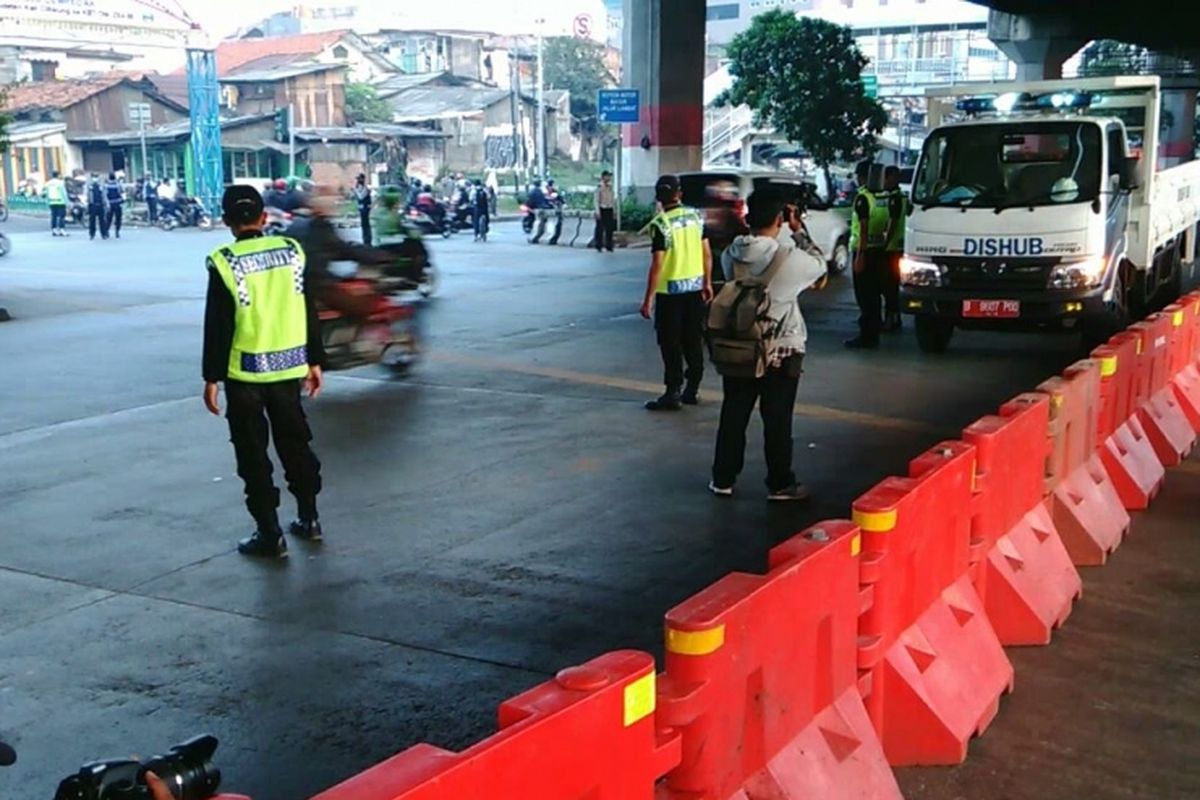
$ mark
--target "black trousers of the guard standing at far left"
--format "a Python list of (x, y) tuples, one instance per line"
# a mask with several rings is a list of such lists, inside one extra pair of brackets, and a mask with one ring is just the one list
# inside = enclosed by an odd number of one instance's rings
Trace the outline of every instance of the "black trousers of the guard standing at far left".
[(246, 509), (259, 529), (278, 527), (280, 491), (271, 480), (274, 468), (266, 453), (271, 434), (300, 518), (316, 519), (320, 462), (308, 446), (312, 432), (300, 404), (300, 381), (244, 384), (226, 380), (226, 405), (238, 475), (246, 485)]

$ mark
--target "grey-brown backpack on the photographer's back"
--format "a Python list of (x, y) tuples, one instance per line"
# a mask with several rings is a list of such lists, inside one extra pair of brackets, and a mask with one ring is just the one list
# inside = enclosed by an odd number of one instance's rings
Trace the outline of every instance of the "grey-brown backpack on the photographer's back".
[(780, 247), (760, 276), (737, 275), (708, 308), (706, 339), (716, 372), (730, 378), (762, 378), (770, 360), (775, 323), (768, 315), (768, 287), (791, 251)]

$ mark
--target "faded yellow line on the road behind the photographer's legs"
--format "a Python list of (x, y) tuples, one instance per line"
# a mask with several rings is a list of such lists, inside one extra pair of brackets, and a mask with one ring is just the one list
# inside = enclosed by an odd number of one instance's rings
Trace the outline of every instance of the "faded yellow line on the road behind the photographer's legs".
[[(618, 375), (600, 375), (590, 372), (560, 369), (558, 367), (544, 367), (533, 363), (515, 363), (511, 361), (484, 359), (462, 353), (446, 353), (444, 350), (439, 350), (437, 353), (431, 353), (430, 357), (433, 361), (440, 361), (443, 363), (476, 367), (480, 369), (494, 369), (498, 372), (510, 372), (514, 374), (532, 375), (535, 378), (550, 378), (552, 380), (562, 380), (564, 383), (580, 384), (583, 386), (619, 389), (623, 391), (637, 392), (640, 395), (658, 395), (662, 391), (662, 386), (660, 384), (654, 384), (648, 380), (635, 380), (631, 378), (620, 378)], [(722, 395), (718, 390), (706, 390), (704, 397), (720, 401)], [(815, 420), (827, 420), (830, 422), (848, 422), (851, 425), (862, 425), (864, 427), (882, 428), (888, 431), (910, 431), (937, 435), (946, 433), (944, 429), (938, 428), (937, 426), (918, 422), (916, 420), (906, 420), (896, 416), (881, 416), (862, 411), (847, 411), (845, 409), (829, 408), (828, 405), (816, 405), (812, 403), (797, 403), (796, 415)]]

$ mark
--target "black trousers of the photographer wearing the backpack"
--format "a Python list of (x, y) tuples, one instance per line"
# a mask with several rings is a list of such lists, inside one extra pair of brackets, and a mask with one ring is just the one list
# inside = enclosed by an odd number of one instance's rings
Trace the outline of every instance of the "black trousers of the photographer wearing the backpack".
[(725, 378), (721, 425), (716, 431), (713, 485), (732, 488), (742, 473), (746, 450), (746, 426), (758, 403), (767, 452), (767, 489), (781, 492), (796, 483), (792, 471), (792, 416), (804, 356), (793, 355), (762, 378)]

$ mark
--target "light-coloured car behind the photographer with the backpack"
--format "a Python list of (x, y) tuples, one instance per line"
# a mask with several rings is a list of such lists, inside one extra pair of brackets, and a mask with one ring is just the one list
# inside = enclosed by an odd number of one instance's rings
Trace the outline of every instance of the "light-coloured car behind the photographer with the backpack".
[[(844, 272), (850, 266), (850, 213), (830, 204), (817, 184), (802, 175), (768, 172), (706, 170), (679, 175), (684, 205), (704, 215), (714, 266), (734, 236), (746, 231), (746, 199), (768, 186), (806, 190), (809, 196), (805, 223), (812, 239), (824, 252), (830, 272)], [(786, 190), (785, 190), (786, 191)], [(721, 283), (720, 270), (714, 269), (714, 283)]]

